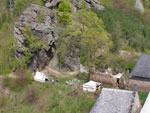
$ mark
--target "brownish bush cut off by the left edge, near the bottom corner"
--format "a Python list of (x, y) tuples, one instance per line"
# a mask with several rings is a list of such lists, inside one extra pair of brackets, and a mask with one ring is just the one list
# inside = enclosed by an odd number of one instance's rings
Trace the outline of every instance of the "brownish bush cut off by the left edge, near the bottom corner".
[(0, 108), (5, 107), (9, 103), (9, 94), (3, 89), (0, 89)]

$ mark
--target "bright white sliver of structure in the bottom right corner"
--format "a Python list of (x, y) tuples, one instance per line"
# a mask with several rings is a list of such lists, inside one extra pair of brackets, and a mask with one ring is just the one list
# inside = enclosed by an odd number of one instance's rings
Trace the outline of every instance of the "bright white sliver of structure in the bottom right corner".
[(150, 113), (150, 92), (140, 113)]

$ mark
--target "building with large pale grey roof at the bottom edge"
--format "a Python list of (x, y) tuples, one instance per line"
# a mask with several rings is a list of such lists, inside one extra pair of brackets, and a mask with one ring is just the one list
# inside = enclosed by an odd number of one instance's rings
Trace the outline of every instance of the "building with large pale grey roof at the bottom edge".
[(140, 107), (137, 92), (103, 88), (90, 113), (135, 113)]

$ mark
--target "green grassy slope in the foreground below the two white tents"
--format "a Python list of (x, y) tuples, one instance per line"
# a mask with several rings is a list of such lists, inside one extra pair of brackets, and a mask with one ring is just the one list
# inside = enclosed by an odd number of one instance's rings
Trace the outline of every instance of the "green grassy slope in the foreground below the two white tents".
[(65, 79), (54, 85), (33, 82), (29, 87), (33, 86), (38, 92), (34, 104), (24, 99), (26, 89), (11, 92), (9, 104), (0, 109), (0, 113), (88, 113), (97, 98), (94, 93), (84, 93), (82, 89), (65, 85)]

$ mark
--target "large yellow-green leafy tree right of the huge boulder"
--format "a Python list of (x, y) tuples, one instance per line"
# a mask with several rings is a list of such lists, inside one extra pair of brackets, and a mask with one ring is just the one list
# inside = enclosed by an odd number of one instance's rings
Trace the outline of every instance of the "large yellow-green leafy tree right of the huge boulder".
[(102, 20), (87, 10), (74, 14), (72, 21), (63, 30), (58, 44), (59, 55), (64, 57), (72, 51), (72, 47), (78, 48), (82, 64), (89, 69), (94, 66), (95, 59), (102, 55), (99, 50), (109, 50), (110, 45), (111, 41), (104, 30)]

